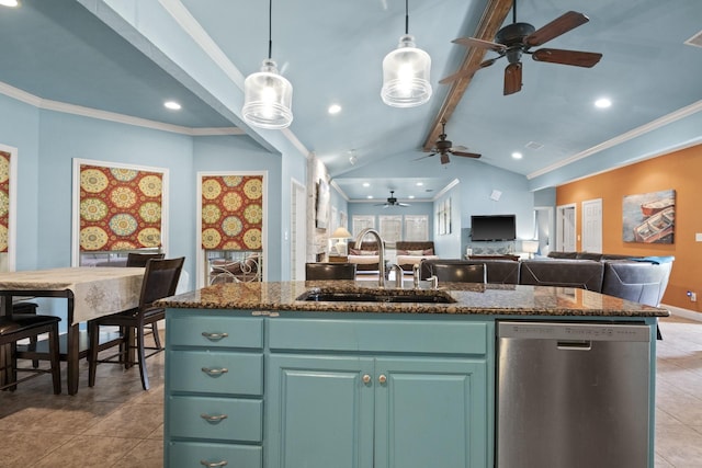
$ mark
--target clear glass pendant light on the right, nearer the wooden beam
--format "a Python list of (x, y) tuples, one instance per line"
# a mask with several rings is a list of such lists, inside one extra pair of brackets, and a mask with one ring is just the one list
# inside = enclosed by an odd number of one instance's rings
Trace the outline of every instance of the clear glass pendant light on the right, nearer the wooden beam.
[(414, 107), (431, 98), (431, 57), (415, 46), (409, 35), (409, 0), (405, 0), (405, 35), (383, 60), (383, 102), (393, 107)]

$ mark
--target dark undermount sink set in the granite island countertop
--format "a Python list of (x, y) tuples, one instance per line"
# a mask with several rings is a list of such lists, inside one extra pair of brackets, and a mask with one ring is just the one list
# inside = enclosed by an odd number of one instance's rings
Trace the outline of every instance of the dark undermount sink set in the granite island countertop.
[(444, 290), (422, 289), (382, 289), (382, 290), (325, 290), (310, 289), (297, 297), (297, 300), (331, 303), (433, 303), (451, 304), (456, 300)]

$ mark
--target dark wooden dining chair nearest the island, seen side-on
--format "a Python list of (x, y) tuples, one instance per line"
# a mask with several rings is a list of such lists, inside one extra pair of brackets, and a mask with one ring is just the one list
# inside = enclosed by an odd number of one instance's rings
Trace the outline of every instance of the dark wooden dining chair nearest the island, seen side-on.
[[(184, 256), (168, 260), (149, 260), (144, 271), (139, 305), (134, 309), (99, 317), (88, 322), (88, 335), (90, 336), (88, 385), (90, 387), (95, 385), (95, 370), (99, 363), (118, 363), (124, 365), (125, 368), (132, 367), (134, 364), (132, 351), (135, 350), (136, 362), (139, 365), (139, 374), (141, 376), (141, 387), (145, 390), (149, 389), (146, 358), (163, 351), (163, 349), (145, 345), (144, 328), (147, 324), (165, 319), (166, 310), (162, 307), (156, 307), (154, 303), (176, 293), (184, 261)], [(101, 327), (120, 327), (120, 336), (100, 343)], [(98, 359), (98, 353), (114, 346), (120, 347), (117, 353), (103, 359)], [(147, 350), (152, 352), (147, 355)]]

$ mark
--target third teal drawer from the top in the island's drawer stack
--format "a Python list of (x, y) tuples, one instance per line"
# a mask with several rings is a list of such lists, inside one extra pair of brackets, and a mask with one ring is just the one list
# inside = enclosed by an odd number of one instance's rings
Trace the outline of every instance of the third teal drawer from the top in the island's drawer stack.
[[(236, 398), (167, 397), (171, 438), (261, 442), (263, 402)], [(226, 416), (207, 421), (206, 416)]]

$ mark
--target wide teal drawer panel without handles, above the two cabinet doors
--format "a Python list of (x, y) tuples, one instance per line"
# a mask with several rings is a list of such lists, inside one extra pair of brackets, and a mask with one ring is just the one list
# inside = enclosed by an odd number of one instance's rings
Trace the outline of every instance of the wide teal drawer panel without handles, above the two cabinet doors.
[(456, 320), (272, 319), (273, 350), (485, 354), (488, 323)]

